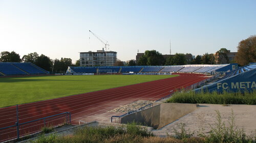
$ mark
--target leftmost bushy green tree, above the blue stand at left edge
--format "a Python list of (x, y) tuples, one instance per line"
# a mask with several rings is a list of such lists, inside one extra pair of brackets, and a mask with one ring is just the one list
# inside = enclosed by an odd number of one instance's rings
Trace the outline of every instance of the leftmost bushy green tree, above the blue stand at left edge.
[(20, 56), (15, 51), (3, 51), (1, 52), (0, 62), (21, 62)]

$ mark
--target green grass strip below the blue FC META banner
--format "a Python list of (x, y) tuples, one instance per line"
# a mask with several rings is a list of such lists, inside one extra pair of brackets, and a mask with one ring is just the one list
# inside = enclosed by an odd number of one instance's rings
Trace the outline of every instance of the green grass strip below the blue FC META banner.
[(168, 103), (208, 103), (208, 104), (256, 104), (256, 90), (245, 93), (218, 94), (217, 92), (195, 93), (194, 91), (186, 93), (175, 93), (172, 98), (166, 100)]

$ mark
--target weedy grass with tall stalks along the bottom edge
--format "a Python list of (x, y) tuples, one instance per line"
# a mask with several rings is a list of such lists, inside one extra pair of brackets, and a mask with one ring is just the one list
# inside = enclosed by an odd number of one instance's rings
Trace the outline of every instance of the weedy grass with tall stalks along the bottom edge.
[(228, 125), (221, 120), (219, 111), (216, 111), (216, 125), (211, 126), (209, 135), (200, 133), (199, 137), (193, 136), (189, 130), (185, 130), (185, 124), (181, 123), (175, 129), (175, 135), (167, 137), (154, 136), (146, 127), (137, 126), (135, 122), (119, 127), (82, 127), (75, 131), (73, 135), (58, 136), (51, 134), (49, 136), (41, 135), (31, 143), (43, 142), (255, 142), (256, 134), (246, 135), (243, 129), (238, 129), (234, 122), (233, 112), (231, 113)]

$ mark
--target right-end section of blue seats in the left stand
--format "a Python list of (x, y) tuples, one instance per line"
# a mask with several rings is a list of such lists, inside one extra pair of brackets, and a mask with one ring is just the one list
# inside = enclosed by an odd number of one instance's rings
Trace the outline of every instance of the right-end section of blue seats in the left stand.
[(46, 73), (42, 70), (37, 69), (36, 67), (32, 66), (29, 63), (14, 63), (13, 65), (18, 67), (19, 69), (24, 70), (27, 73), (30, 73), (30, 74), (44, 74), (44, 73)]

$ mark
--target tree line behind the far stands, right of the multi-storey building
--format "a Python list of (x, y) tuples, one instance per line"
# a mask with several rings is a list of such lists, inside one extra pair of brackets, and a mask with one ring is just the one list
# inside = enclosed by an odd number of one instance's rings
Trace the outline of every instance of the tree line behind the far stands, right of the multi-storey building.
[(256, 62), (256, 36), (242, 40), (238, 45), (238, 53), (234, 57), (234, 61), (229, 61), (228, 50), (221, 48), (215, 54), (205, 53), (202, 56), (197, 55), (193, 59), (191, 53), (176, 53), (164, 59), (163, 55), (156, 50), (146, 50), (144, 55), (140, 57), (137, 64), (130, 60), (127, 65), (129, 66), (169, 66), (169, 65), (190, 65), (190, 64), (229, 64), (238, 63), (240, 66)]

